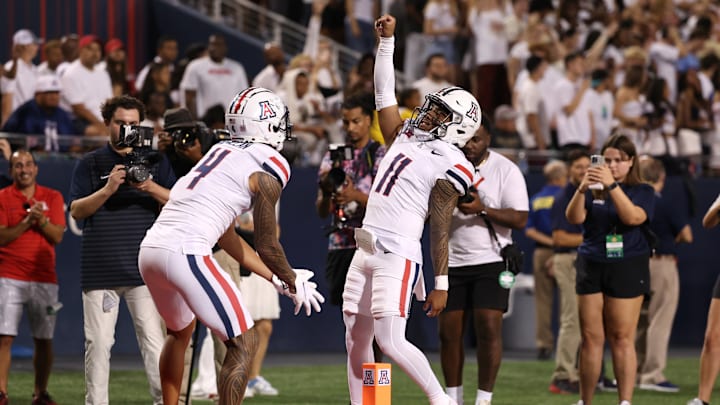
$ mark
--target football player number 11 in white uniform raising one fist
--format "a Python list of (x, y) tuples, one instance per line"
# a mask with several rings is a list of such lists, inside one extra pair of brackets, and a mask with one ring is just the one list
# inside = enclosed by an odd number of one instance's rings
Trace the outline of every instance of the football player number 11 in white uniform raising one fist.
[(460, 148), (480, 128), (477, 100), (459, 87), (429, 94), (403, 124), (394, 97), (395, 19), (376, 22), (375, 103), (389, 146), (373, 181), (358, 250), (345, 282), (343, 318), (352, 404), (362, 402), (362, 363), (373, 361), (373, 336), (423, 390), (430, 404), (454, 404), (423, 353), (405, 338), (411, 295), (425, 299), (420, 239), (430, 219), (435, 288), (423, 310), (436, 317), (448, 289), (448, 239), (458, 197), (472, 184), (474, 167)]

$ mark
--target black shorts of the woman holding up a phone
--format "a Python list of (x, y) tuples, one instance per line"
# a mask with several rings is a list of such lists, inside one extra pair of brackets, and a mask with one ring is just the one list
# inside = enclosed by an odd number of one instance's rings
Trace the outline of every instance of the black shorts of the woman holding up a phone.
[(578, 255), (575, 262), (578, 295), (603, 293), (613, 298), (634, 298), (650, 293), (650, 256), (599, 262)]

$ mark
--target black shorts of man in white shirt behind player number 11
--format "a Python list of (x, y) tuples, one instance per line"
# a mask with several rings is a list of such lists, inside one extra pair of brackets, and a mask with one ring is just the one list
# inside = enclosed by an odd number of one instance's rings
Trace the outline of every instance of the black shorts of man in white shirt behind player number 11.
[(507, 311), (510, 290), (500, 286), (498, 278), (504, 262), (475, 266), (450, 267), (448, 301), (445, 311), (499, 309)]

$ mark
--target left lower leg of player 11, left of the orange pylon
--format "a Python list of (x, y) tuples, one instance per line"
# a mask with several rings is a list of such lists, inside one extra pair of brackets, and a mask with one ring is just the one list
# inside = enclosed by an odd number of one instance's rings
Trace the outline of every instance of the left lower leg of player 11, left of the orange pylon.
[(369, 316), (343, 313), (350, 403), (362, 403), (362, 364), (375, 361), (372, 352), (373, 319)]

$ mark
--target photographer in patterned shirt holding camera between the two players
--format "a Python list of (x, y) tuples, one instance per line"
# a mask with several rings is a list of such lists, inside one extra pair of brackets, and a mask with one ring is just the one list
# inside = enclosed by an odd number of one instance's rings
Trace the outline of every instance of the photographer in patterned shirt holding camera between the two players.
[(320, 164), (317, 212), (321, 218), (332, 215), (325, 278), (330, 303), (338, 306), (355, 253), (355, 228), (362, 225), (370, 186), (385, 156), (385, 147), (370, 139), (372, 110), (372, 94), (356, 93), (345, 99), (342, 123), (348, 144), (330, 145)]

